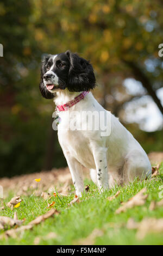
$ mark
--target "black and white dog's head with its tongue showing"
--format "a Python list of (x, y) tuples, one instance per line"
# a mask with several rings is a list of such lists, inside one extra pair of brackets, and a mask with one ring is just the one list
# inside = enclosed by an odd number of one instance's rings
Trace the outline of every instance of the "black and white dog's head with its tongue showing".
[(89, 91), (95, 83), (92, 65), (76, 53), (49, 54), (42, 60), (40, 92), (46, 99), (66, 88), (70, 92)]

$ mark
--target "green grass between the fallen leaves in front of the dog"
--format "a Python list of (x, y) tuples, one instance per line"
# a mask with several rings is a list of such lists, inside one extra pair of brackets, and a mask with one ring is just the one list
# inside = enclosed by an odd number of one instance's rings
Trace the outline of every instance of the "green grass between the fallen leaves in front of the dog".
[[(162, 173), (163, 163), (160, 171)], [(60, 211), (60, 215), (48, 218), (45, 222), (35, 225), (32, 230), (24, 231), (16, 239), (11, 237), (2, 239), (0, 245), (34, 245), (36, 237), (39, 237), (39, 245), (77, 245), (81, 239), (89, 236), (95, 228), (103, 230), (103, 235), (96, 237), (95, 245), (162, 245), (163, 233), (150, 233), (144, 239), (139, 240), (136, 238), (136, 230), (129, 230), (126, 227), (130, 217), (134, 218), (136, 222), (140, 222), (145, 217), (163, 217), (163, 207), (158, 207), (153, 211), (149, 210), (152, 200), (159, 201), (161, 199), (159, 198), (159, 187), (162, 185), (162, 180), (163, 175), (160, 174), (158, 178), (143, 182), (135, 180), (129, 185), (117, 186), (102, 194), (98, 193), (96, 185), (90, 180), (85, 180), (85, 185), (90, 184), (90, 191), (83, 194), (82, 202), (67, 208), (67, 204), (74, 197), (73, 187), (72, 193), (68, 197), (58, 195), (51, 198), (49, 202), (55, 200), (54, 206)], [(147, 187), (147, 193), (149, 194), (144, 205), (128, 209), (118, 215), (115, 214), (121, 202), (126, 202), (143, 187)], [(112, 201), (106, 199), (118, 190), (121, 193), (117, 198)], [(9, 197), (5, 199), (5, 203), (9, 202), (12, 196), (11, 192)], [(36, 196), (22, 196), (22, 199), (19, 208), (11, 211), (5, 207), (5, 210), (0, 211), (0, 215), (13, 217), (16, 211), (19, 219), (26, 218), (23, 224), (28, 224), (37, 216), (47, 212), (46, 200)], [(47, 235), (51, 232), (57, 234), (53, 239), (47, 238)], [(0, 235), (2, 233), (3, 231), (0, 231)]]

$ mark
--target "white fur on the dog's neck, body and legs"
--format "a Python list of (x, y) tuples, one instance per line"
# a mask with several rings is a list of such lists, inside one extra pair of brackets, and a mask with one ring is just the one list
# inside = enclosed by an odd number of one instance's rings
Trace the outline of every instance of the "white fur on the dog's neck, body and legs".
[[(57, 92), (56, 105), (74, 99), (79, 93), (67, 89)], [(72, 111), (105, 111), (92, 93), (85, 96)], [(59, 112), (61, 123), (58, 125), (58, 138), (72, 175), (76, 194), (84, 191), (82, 165), (91, 170), (91, 178), (103, 191), (115, 185), (133, 180), (136, 176), (145, 178), (151, 175), (151, 163), (141, 145), (131, 133), (111, 114), (111, 133), (102, 137), (101, 131), (67, 130), (66, 112)], [(75, 117), (77, 118), (77, 117)], [(75, 120), (73, 120), (75, 121)], [(100, 178), (100, 180), (99, 180)]]

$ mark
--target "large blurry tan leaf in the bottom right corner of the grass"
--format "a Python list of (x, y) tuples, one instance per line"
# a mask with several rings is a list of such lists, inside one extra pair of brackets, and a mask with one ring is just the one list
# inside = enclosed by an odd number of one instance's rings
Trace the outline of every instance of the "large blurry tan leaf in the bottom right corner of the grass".
[(143, 239), (149, 233), (162, 233), (163, 218), (145, 218), (141, 222), (135, 222), (133, 219), (129, 219), (127, 228), (137, 229), (137, 239)]

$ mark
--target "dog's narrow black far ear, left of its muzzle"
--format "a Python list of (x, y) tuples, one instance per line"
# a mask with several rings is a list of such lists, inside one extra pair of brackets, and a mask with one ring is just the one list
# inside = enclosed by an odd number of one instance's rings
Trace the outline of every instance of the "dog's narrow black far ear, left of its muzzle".
[(43, 57), (42, 59), (42, 66), (41, 66), (41, 78), (40, 78), (40, 84), (39, 84), (39, 88), (40, 88), (40, 92), (42, 94), (43, 97), (45, 97), (46, 99), (53, 99), (54, 97), (54, 94), (49, 92), (46, 87), (45, 87), (45, 84), (43, 83), (43, 75), (45, 74), (46, 72), (46, 69), (45, 69), (45, 65), (46, 63), (48, 62), (48, 59), (49, 57), (51, 57), (51, 55), (47, 55), (45, 57)]

